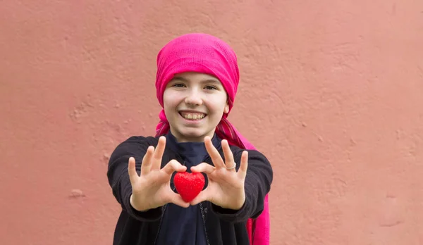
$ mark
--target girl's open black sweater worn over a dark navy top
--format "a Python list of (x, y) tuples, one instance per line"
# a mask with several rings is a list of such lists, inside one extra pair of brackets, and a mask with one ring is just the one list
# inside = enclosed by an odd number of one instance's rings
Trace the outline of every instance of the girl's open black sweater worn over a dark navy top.
[[(121, 203), (122, 212), (118, 218), (114, 234), (114, 245), (154, 245), (161, 225), (161, 218), (166, 206), (154, 208), (146, 212), (136, 211), (130, 205), (132, 187), (128, 176), (128, 159), (135, 158), (138, 175), (142, 158), (148, 146), (157, 146), (155, 137), (130, 137), (119, 144), (111, 155), (107, 177), (113, 194)], [(164, 151), (161, 167), (172, 159), (183, 163), (183, 157), (167, 147)], [(218, 148), (222, 158), (223, 151)], [(238, 171), (243, 149), (231, 146)], [(245, 177), (245, 203), (238, 211), (221, 208), (204, 201), (199, 203), (206, 230), (207, 244), (234, 245), (250, 244), (246, 222), (248, 218), (257, 218), (264, 208), (264, 196), (269, 192), (273, 180), (273, 171), (266, 157), (258, 151), (248, 151), (248, 168)], [(210, 158), (205, 161), (213, 165)]]

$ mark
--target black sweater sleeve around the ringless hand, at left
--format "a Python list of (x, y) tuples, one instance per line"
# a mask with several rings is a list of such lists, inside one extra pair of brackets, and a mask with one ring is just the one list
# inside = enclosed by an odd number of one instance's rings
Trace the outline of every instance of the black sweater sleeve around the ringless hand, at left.
[(130, 205), (132, 186), (128, 175), (128, 161), (131, 156), (135, 158), (135, 168), (138, 175), (140, 175), (142, 158), (147, 152), (149, 145), (151, 144), (145, 137), (130, 137), (119, 144), (111, 154), (107, 170), (107, 178), (112, 192), (118, 203), (121, 204), (123, 211), (140, 221), (158, 220), (162, 212), (161, 207), (140, 212)]

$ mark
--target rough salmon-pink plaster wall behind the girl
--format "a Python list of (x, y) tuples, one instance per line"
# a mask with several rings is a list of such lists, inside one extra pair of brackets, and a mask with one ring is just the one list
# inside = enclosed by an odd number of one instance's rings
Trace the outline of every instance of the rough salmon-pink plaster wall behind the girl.
[(200, 2), (2, 2), (0, 244), (111, 244), (109, 154), (153, 134), (155, 56), (186, 32), (238, 53), (272, 245), (423, 244), (423, 1)]

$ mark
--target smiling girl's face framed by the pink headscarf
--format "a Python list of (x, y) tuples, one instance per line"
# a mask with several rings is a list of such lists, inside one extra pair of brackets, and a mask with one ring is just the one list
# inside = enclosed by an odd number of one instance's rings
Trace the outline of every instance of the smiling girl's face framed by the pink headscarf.
[(164, 113), (178, 142), (204, 142), (213, 137), (223, 113), (228, 113), (228, 96), (221, 82), (203, 73), (180, 73), (164, 90)]

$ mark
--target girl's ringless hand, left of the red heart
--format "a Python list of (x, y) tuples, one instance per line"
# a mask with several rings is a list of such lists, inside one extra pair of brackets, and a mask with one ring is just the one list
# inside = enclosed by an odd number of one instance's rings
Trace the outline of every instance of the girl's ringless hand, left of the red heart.
[(183, 201), (179, 194), (173, 192), (170, 186), (172, 173), (185, 172), (187, 168), (178, 161), (172, 160), (160, 169), (165, 146), (166, 137), (160, 137), (156, 149), (154, 146), (148, 147), (142, 158), (140, 176), (135, 170), (135, 158), (129, 158), (128, 173), (133, 190), (130, 204), (137, 211), (147, 211), (166, 203), (174, 203), (184, 208), (190, 205)]

